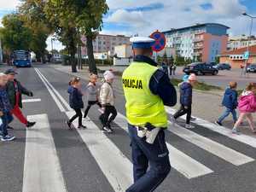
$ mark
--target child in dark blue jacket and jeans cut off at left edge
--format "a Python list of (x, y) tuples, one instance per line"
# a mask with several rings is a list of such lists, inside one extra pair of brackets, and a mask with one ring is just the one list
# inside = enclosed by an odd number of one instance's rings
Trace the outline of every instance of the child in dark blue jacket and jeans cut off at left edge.
[(5, 85), (7, 84), (7, 76), (4, 73), (0, 73), (0, 138), (3, 142), (13, 141), (14, 136), (8, 134), (8, 124), (13, 120), (10, 114), (11, 105), (7, 96)]

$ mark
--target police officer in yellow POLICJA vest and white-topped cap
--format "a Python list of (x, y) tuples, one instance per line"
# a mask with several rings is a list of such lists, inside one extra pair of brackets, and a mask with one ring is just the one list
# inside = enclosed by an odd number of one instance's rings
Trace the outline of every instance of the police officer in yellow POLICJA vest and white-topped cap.
[(130, 41), (134, 61), (125, 69), (122, 81), (134, 183), (126, 192), (149, 192), (154, 191), (171, 170), (164, 105), (174, 106), (177, 93), (167, 74), (150, 58), (154, 39), (134, 37)]

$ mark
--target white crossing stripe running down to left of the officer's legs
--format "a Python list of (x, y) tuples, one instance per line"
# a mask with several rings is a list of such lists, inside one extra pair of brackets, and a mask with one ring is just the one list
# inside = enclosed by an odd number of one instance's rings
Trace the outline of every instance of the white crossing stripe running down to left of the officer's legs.
[[(66, 114), (70, 119), (75, 113), (67, 112)], [(73, 125), (78, 126), (78, 119), (73, 121)], [(125, 191), (133, 183), (131, 161), (92, 121), (87, 121), (86, 126), (88, 129), (77, 129), (80, 137), (89, 148), (114, 191)]]

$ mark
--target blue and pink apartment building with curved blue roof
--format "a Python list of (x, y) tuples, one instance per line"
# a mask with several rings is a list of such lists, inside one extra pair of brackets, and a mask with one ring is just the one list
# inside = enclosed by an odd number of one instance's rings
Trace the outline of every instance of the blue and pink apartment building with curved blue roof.
[(217, 23), (196, 24), (164, 32), (166, 47), (176, 49), (176, 54), (193, 61), (212, 62), (227, 49), (230, 27)]

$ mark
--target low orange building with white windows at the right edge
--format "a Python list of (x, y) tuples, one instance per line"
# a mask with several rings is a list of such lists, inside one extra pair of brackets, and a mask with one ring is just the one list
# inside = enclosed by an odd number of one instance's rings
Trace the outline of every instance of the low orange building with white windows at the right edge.
[[(244, 67), (246, 63), (246, 59), (244, 58), (244, 53), (247, 51), (247, 48), (235, 49), (230, 51), (224, 51), (219, 55), (220, 63), (229, 63), (233, 68)], [(249, 60), (247, 61), (247, 65), (252, 63), (256, 64), (256, 45), (249, 47)]]

